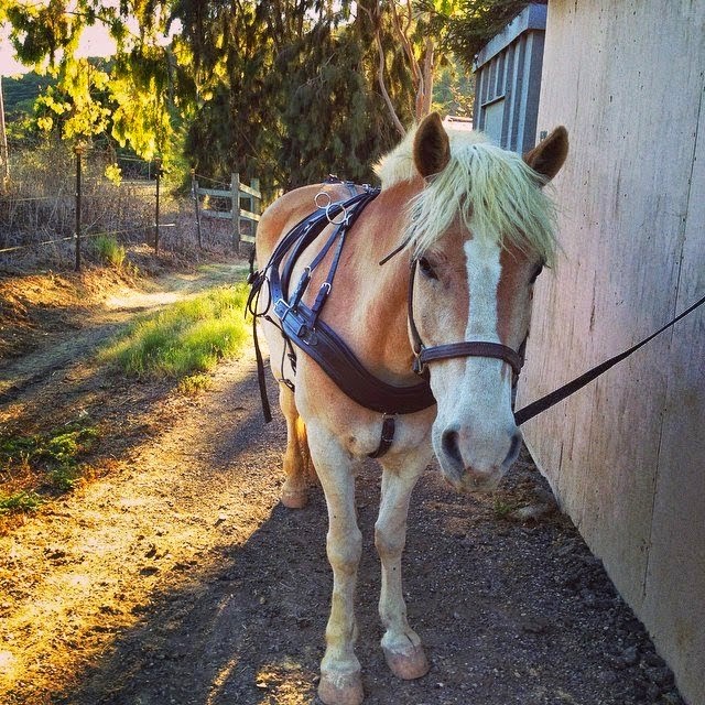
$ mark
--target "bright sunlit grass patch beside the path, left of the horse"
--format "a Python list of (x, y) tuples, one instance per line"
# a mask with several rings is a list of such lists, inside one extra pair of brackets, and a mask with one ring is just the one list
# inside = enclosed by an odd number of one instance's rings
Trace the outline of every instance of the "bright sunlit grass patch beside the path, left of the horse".
[(249, 335), (247, 286), (212, 289), (138, 318), (102, 352), (129, 375), (183, 379), (234, 357)]

